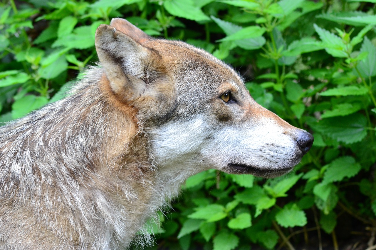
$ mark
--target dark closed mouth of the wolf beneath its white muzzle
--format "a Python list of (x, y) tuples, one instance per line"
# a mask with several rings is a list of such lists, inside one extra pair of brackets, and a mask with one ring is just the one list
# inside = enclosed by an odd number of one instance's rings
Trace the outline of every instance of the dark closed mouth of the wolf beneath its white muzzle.
[(282, 167), (282, 168), (268, 168), (262, 169), (260, 167), (250, 166), (247, 164), (232, 163), (228, 165), (230, 169), (234, 170), (236, 173), (249, 173), (259, 177), (270, 177), (282, 175), (284, 173), (290, 172), (294, 167)]

